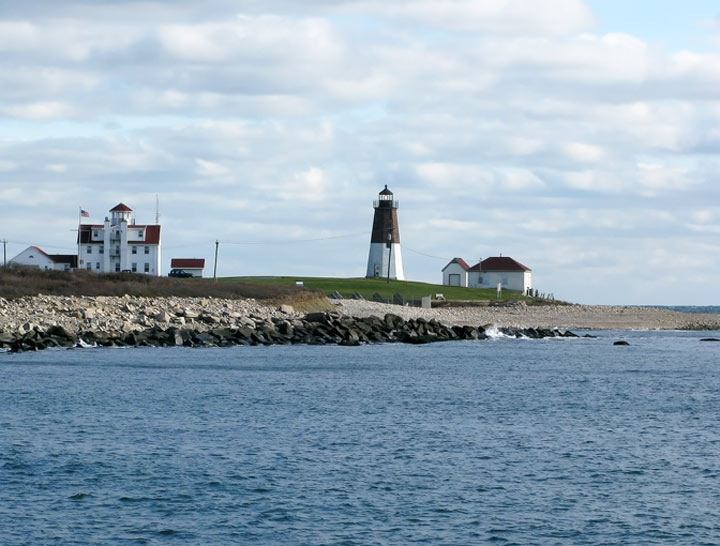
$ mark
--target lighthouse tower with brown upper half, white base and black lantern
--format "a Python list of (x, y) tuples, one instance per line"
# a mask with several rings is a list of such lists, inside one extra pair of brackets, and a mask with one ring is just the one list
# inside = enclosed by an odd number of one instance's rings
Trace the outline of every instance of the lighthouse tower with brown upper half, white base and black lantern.
[(398, 202), (387, 189), (380, 192), (373, 203), (375, 217), (370, 237), (370, 254), (366, 277), (384, 277), (405, 280), (400, 250), (400, 228), (397, 222)]

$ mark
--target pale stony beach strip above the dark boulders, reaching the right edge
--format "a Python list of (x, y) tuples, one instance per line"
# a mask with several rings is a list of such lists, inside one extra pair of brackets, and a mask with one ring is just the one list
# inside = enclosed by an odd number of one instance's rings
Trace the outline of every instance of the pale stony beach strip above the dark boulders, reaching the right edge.
[[(312, 309), (323, 310), (323, 309)], [(657, 307), (542, 305), (522, 302), (499, 307), (421, 309), (365, 300), (328, 300), (324, 310), (347, 317), (383, 317), (405, 320), (435, 319), (446, 326), (561, 328), (583, 330), (715, 330), (720, 315), (681, 313)], [(32, 296), (0, 298), (0, 332), (15, 334), (32, 328), (61, 326), (68, 332), (114, 334), (147, 328), (253, 327), (258, 321), (301, 319), (290, 305), (278, 306), (254, 299), (140, 296)]]

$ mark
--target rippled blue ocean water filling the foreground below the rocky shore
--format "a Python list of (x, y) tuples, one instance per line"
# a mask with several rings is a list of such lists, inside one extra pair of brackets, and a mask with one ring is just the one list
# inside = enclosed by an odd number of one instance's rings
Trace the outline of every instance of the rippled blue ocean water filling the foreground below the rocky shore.
[(0, 544), (718, 544), (712, 335), (0, 353)]

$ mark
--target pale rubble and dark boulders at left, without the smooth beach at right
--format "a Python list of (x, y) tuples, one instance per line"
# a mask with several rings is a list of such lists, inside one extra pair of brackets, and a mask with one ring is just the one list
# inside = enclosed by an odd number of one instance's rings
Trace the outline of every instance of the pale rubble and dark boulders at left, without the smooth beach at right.
[[(447, 326), (435, 319), (352, 317), (337, 312), (300, 316), (292, 307), (253, 300), (62, 298), (0, 301), (0, 348), (224, 347), (235, 345), (360, 345), (486, 339), (482, 325)], [(501, 328), (514, 337), (577, 337), (569, 331)]]

